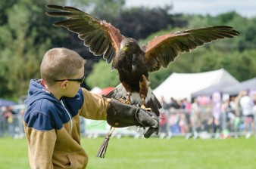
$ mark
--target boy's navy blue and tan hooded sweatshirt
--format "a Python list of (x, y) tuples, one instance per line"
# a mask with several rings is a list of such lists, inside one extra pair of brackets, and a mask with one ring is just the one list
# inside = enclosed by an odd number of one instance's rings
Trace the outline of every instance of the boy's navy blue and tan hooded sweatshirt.
[(105, 120), (108, 101), (84, 88), (75, 97), (56, 99), (40, 80), (31, 80), (24, 130), (31, 168), (86, 168), (80, 144), (80, 116)]

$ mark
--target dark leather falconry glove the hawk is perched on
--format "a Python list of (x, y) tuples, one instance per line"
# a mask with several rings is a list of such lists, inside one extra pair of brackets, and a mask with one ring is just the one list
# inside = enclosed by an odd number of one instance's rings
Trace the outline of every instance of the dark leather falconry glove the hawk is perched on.
[(128, 126), (139, 126), (145, 128), (143, 133), (148, 138), (154, 132), (158, 134), (159, 118), (155, 112), (146, 112), (136, 106), (121, 103), (116, 99), (111, 99), (107, 111), (107, 122), (114, 128), (124, 128)]

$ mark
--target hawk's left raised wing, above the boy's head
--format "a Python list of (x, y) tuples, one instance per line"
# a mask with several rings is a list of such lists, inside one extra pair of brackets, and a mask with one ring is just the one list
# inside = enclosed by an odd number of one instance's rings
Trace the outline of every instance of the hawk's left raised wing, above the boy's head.
[(77, 33), (84, 41), (84, 45), (89, 47), (89, 51), (97, 56), (103, 55), (103, 58), (111, 63), (120, 50), (120, 42), (124, 38), (118, 29), (105, 20), (98, 20), (73, 7), (58, 5), (46, 5), (46, 7), (58, 10), (47, 12), (48, 16), (67, 17), (67, 20), (58, 21), (54, 26), (64, 26), (71, 32)]

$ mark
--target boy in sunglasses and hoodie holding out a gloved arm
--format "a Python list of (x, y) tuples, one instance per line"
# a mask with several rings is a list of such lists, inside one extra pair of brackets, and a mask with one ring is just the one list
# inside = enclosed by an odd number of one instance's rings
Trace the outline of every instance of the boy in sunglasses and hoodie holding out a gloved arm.
[(31, 168), (86, 168), (88, 156), (80, 145), (80, 115), (107, 120), (114, 127), (158, 129), (154, 112), (80, 88), (84, 64), (76, 52), (53, 48), (42, 59), (42, 79), (30, 81), (24, 128)]

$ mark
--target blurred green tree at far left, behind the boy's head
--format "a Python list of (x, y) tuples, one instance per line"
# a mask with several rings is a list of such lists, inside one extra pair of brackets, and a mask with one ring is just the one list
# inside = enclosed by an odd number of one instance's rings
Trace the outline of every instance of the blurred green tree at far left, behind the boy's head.
[[(64, 37), (49, 31), (45, 22), (45, 2), (2, 1), (6, 8), (0, 26), (0, 97), (17, 98), (27, 94), (30, 78), (40, 78), (39, 66), (52, 38)], [(12, 4), (10, 4), (13, 2)], [(47, 24), (48, 23), (48, 24)]]

